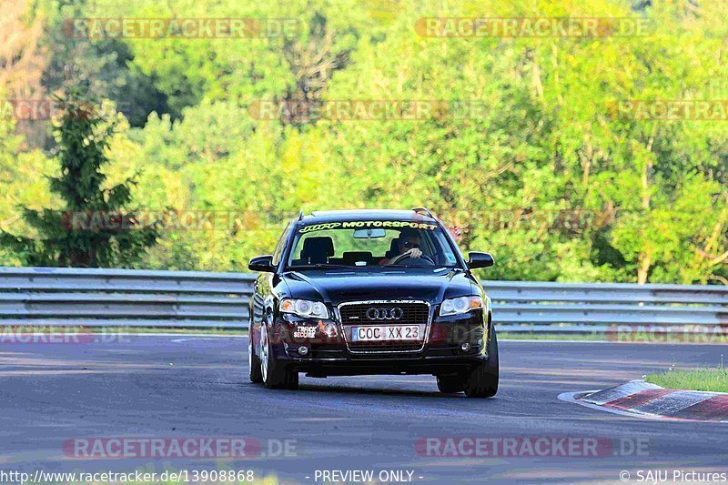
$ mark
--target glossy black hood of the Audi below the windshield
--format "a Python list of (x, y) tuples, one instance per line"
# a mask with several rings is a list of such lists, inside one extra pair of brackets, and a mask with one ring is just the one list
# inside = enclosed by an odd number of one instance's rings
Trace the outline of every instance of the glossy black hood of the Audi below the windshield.
[(292, 298), (323, 300), (332, 305), (373, 299), (423, 299), (439, 303), (443, 298), (478, 293), (474, 279), (457, 269), (327, 269), (291, 271), (283, 278)]

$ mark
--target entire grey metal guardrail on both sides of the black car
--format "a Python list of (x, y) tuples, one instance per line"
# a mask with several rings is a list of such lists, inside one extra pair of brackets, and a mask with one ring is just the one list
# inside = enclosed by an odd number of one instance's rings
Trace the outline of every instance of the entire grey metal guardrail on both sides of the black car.
[[(0, 268), (4, 325), (247, 328), (255, 275)], [(501, 330), (728, 325), (728, 287), (483, 281)]]

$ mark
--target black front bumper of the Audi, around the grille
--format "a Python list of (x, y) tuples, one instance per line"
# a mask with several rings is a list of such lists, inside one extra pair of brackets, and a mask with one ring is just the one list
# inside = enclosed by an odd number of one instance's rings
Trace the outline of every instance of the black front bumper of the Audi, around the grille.
[[(335, 336), (331, 336), (332, 326)], [(304, 327), (316, 329), (297, 331)], [(286, 315), (276, 319), (273, 352), (279, 361), (314, 377), (449, 374), (467, 371), (488, 359), (489, 329), (482, 310), (433, 318), (428, 329), (421, 349), (361, 352), (349, 349), (344, 335), (347, 329), (334, 319), (307, 321)], [(464, 343), (470, 349), (462, 349)], [(306, 348), (305, 355), (298, 351), (301, 347)]]

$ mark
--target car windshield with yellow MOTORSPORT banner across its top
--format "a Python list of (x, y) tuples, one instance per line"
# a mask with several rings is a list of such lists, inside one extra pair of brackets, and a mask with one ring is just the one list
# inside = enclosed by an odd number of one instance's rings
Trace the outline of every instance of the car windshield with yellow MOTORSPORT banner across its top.
[(436, 224), (413, 221), (336, 221), (297, 227), (287, 267), (453, 268), (450, 242)]

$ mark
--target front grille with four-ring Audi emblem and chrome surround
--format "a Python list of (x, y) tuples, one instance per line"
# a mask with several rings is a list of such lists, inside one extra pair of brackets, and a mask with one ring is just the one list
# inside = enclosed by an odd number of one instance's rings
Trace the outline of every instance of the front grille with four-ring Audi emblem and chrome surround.
[[(430, 307), (419, 302), (352, 303), (339, 307), (341, 325), (352, 352), (415, 352), (423, 349), (430, 322)], [(418, 325), (417, 340), (352, 341), (352, 327)]]

